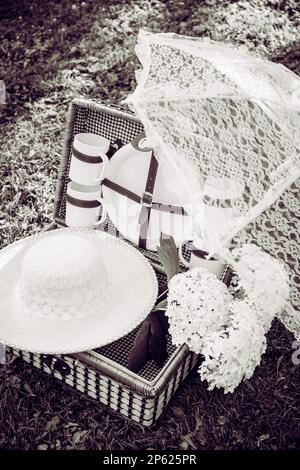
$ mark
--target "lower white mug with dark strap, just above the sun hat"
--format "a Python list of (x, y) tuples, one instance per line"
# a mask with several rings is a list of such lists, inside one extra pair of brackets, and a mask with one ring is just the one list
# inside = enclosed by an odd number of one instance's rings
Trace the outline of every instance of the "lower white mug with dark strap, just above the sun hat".
[[(102, 215), (100, 208), (102, 205)], [(95, 227), (104, 222), (107, 215), (101, 198), (100, 186), (81, 185), (70, 181), (66, 194), (66, 225), (68, 227)]]

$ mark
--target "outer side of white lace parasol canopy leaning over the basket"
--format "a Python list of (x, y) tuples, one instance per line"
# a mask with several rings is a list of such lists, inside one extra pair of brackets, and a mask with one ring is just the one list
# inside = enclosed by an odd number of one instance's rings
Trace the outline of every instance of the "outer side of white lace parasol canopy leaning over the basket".
[(189, 194), (195, 235), (223, 248), (300, 176), (300, 79), (246, 48), (140, 31), (127, 103), (169, 184)]

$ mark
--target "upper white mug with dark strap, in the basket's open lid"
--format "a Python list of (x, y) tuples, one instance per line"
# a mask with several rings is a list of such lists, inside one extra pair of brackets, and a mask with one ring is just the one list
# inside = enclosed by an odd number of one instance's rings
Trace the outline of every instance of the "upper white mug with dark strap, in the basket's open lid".
[(105, 177), (110, 142), (97, 134), (76, 134), (72, 146), (69, 178), (75, 183), (95, 185)]

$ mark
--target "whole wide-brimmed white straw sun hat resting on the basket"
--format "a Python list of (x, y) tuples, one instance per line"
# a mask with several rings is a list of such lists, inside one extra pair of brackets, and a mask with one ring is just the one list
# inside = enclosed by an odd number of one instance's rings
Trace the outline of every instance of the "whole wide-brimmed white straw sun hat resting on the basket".
[(0, 251), (0, 341), (75, 353), (126, 335), (151, 311), (155, 273), (128, 243), (100, 231), (42, 232)]

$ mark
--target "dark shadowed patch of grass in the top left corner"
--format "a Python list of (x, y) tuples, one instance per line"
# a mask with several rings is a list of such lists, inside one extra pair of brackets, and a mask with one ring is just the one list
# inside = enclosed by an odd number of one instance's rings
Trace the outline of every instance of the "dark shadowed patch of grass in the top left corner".
[[(82, 55), (76, 46), (97, 17), (114, 16), (116, 0), (17, 0), (0, 3), (0, 79), (6, 84), (2, 122), (26, 112), (26, 104), (46, 96), (67, 61)], [(25, 105), (25, 107), (24, 107)]]

